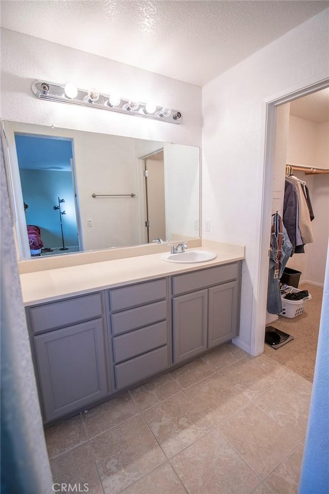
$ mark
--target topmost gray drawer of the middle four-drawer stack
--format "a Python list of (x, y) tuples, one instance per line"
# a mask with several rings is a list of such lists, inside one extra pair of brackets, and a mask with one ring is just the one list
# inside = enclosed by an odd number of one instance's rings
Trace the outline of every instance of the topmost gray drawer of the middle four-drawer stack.
[(166, 280), (156, 279), (147, 283), (111, 290), (109, 292), (109, 303), (111, 310), (116, 311), (149, 304), (161, 298), (166, 298), (166, 296)]

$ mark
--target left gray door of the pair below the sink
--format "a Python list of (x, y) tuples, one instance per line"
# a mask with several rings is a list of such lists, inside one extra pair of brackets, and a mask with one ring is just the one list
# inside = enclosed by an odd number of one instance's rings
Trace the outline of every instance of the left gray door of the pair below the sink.
[(173, 298), (174, 363), (207, 349), (207, 290)]

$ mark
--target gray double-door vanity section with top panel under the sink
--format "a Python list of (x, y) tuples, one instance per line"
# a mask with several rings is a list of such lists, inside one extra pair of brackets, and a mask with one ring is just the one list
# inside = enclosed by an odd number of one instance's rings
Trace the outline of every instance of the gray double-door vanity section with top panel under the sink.
[(174, 364), (237, 336), (240, 279), (240, 262), (173, 276)]

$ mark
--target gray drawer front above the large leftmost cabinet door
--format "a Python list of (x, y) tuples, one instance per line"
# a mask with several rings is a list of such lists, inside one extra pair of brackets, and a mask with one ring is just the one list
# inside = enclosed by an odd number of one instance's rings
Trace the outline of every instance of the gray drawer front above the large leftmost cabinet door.
[(29, 309), (34, 334), (96, 319), (103, 313), (100, 293), (70, 298)]

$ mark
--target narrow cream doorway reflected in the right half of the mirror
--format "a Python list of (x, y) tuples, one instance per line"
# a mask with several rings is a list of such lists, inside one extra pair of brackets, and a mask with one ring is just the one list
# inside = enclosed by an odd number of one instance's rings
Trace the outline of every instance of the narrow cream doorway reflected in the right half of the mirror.
[(163, 149), (143, 157), (147, 243), (166, 239), (165, 169)]

